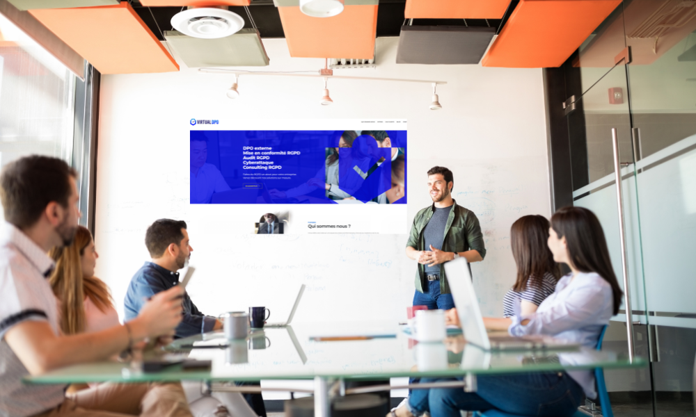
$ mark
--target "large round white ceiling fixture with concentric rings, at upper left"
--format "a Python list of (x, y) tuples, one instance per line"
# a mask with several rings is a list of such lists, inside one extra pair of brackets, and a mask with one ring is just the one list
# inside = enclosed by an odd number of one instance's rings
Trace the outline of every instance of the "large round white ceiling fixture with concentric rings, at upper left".
[(223, 8), (189, 8), (171, 19), (172, 26), (193, 38), (225, 38), (244, 27), (244, 19)]

